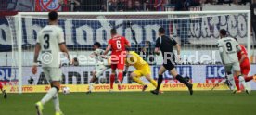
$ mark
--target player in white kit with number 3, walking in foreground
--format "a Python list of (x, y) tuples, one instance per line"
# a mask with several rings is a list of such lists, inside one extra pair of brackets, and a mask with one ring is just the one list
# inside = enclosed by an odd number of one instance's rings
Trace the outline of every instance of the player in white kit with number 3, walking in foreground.
[(58, 91), (60, 88), (60, 81), (62, 79), (60, 58), (58, 55), (60, 52), (63, 52), (69, 58), (69, 53), (65, 45), (64, 32), (62, 28), (58, 26), (58, 13), (55, 11), (49, 12), (48, 20), (49, 24), (46, 25), (37, 36), (32, 73), (36, 74), (37, 72), (37, 59), (41, 51), (42, 68), (45, 73), (45, 78), (51, 84), (51, 89), (49, 89), (47, 94), (35, 104), (35, 107), (37, 109), (37, 115), (42, 115), (45, 103), (53, 99), (56, 115), (63, 115), (59, 108), (58, 100)]

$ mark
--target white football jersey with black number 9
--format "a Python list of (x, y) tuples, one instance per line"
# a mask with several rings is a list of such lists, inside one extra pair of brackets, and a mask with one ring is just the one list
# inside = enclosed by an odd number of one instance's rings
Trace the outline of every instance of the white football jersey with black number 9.
[(238, 62), (237, 50), (239, 49), (238, 43), (234, 38), (225, 37), (218, 40), (218, 47), (220, 53), (223, 55), (223, 63), (231, 64)]

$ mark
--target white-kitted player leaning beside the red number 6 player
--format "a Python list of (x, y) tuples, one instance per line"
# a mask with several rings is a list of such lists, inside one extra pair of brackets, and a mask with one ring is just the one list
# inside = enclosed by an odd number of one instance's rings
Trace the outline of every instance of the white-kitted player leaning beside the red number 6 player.
[(107, 56), (103, 57), (104, 50), (100, 49), (100, 47), (100, 43), (96, 42), (94, 44), (95, 51), (90, 55), (90, 57), (94, 57), (96, 59), (96, 66), (95, 70), (93, 71), (93, 78), (90, 80), (89, 83), (89, 91), (86, 94), (92, 93), (92, 90), (94, 88), (93, 85), (96, 80), (99, 79), (99, 77), (103, 74), (105, 70), (110, 69), (108, 58), (111, 52), (109, 52)]

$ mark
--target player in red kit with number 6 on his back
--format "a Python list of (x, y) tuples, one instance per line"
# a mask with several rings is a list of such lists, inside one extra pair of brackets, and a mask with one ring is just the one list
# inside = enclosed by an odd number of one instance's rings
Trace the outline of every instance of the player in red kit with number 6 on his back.
[(118, 69), (118, 89), (121, 90), (122, 73), (125, 64), (126, 47), (131, 47), (129, 41), (117, 34), (116, 29), (111, 29), (111, 39), (109, 45), (103, 55), (106, 55), (111, 49), (111, 75), (110, 75), (110, 90), (113, 89), (115, 81), (116, 69)]

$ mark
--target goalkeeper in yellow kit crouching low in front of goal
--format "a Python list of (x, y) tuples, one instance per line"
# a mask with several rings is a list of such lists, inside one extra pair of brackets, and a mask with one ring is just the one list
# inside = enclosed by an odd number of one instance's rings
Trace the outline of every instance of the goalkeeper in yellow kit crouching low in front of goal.
[(157, 82), (151, 78), (151, 69), (149, 65), (137, 53), (135, 53), (134, 51), (130, 51), (127, 54), (125, 63), (126, 68), (123, 75), (127, 73), (129, 66), (134, 66), (136, 70), (134, 70), (130, 76), (133, 78), (134, 82), (143, 85), (142, 91), (145, 91), (147, 89), (147, 84), (143, 83), (140, 79), (140, 77), (142, 76), (145, 76), (150, 83), (157, 87)]

